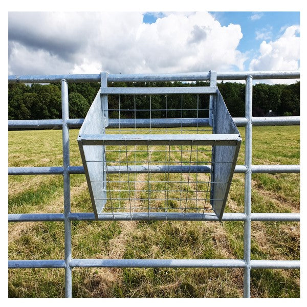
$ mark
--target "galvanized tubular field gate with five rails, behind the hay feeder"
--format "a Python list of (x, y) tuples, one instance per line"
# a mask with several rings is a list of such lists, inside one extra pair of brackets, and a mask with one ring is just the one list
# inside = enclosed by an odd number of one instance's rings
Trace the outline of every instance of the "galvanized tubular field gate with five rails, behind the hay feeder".
[[(69, 129), (80, 128), (83, 119), (69, 118), (68, 82), (100, 82), (100, 74), (86, 75), (11, 75), (9, 83), (52, 83), (61, 82), (62, 119), (55, 120), (9, 120), (9, 130), (62, 128), (63, 166), (55, 167), (9, 167), (9, 175), (61, 174), (63, 175), (64, 213), (9, 214), (9, 222), (64, 222), (64, 260), (9, 260), (9, 269), (19, 268), (64, 268), (65, 297), (72, 297), (72, 269), (75, 267), (109, 268), (244, 268), (244, 297), (250, 297), (251, 269), (299, 269), (299, 260), (251, 260), (251, 222), (299, 222), (300, 213), (252, 213), (252, 173), (298, 173), (299, 165), (252, 165), (252, 126), (299, 125), (300, 118), (252, 117), (252, 81), (259, 79), (298, 79), (299, 71), (277, 72), (217, 72), (217, 80), (246, 80), (245, 117), (233, 118), (237, 126), (245, 126), (245, 165), (236, 165), (235, 172), (245, 173), (244, 213), (224, 213), (222, 221), (244, 222), (243, 259), (73, 259), (71, 252), (71, 221), (95, 221), (94, 213), (72, 213), (70, 200), (70, 174), (84, 174), (82, 166), (70, 166)], [(181, 74), (108, 74), (111, 82), (146, 81), (190, 81), (210, 80), (210, 73)], [(101, 215), (99, 220), (114, 220)], [(135, 216), (132, 220), (143, 220)], [(116, 220), (131, 220), (131, 216), (120, 216)], [(165, 220), (157, 216), (155, 220)], [(171, 218), (168, 218), (171, 220)], [(176, 220), (176, 218), (173, 218)], [(188, 221), (201, 220), (186, 215)], [(213, 215), (202, 221), (218, 221)]]

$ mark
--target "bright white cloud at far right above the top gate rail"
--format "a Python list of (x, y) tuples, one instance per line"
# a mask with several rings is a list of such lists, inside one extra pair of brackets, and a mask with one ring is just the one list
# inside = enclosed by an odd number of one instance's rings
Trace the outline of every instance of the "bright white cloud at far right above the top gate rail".
[[(300, 59), (300, 38), (296, 36), (300, 28), (298, 25), (288, 27), (276, 40), (261, 42), (260, 55), (250, 63), (250, 70), (298, 70)], [(280, 81), (281, 82), (281, 81)], [(282, 80), (282, 83), (286, 81)], [(288, 83), (293, 80), (288, 80)]]

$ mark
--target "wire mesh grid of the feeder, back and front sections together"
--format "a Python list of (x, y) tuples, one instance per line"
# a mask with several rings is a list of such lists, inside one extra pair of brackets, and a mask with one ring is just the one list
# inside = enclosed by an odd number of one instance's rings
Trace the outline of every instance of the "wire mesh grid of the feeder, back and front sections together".
[[(117, 99), (116, 99), (117, 98)], [(184, 119), (206, 118), (209, 99), (206, 95), (110, 95), (109, 114), (118, 115), (118, 128), (107, 128), (107, 134), (199, 134), (212, 133), (208, 126), (186, 127)], [(128, 108), (127, 108), (128, 106)], [(133, 109), (131, 110), (131, 106)], [(134, 121), (126, 128), (123, 119)], [(147, 128), (137, 127), (137, 119), (147, 120)], [(176, 118), (177, 124), (168, 123)], [(160, 120), (157, 127), (155, 119)], [(128, 121), (125, 121), (128, 122)], [(105, 146), (106, 169), (117, 165), (127, 173), (110, 174), (106, 178), (106, 205), (104, 212), (208, 212), (210, 205), (210, 173), (191, 172), (190, 166), (211, 166), (210, 146)], [(201, 160), (199, 160), (201, 157)], [(136, 166), (147, 166), (146, 173), (137, 173)], [(152, 172), (161, 166), (159, 173)], [(172, 172), (171, 166), (188, 166), (186, 172)], [(129, 172), (130, 169), (130, 172)], [(174, 168), (172, 168), (174, 169)], [(148, 215), (149, 216), (149, 215)]]

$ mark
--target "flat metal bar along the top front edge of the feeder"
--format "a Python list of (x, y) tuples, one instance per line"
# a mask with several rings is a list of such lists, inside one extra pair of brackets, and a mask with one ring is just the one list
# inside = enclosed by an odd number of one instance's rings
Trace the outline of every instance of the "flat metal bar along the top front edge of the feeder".
[[(80, 135), (82, 145), (237, 145), (235, 134)], [(78, 139), (79, 139), (78, 138)]]

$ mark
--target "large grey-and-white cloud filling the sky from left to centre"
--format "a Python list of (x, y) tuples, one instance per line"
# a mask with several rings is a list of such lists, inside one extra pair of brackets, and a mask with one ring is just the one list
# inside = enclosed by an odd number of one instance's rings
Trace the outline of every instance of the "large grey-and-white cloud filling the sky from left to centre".
[(242, 70), (242, 37), (206, 12), (10, 12), (9, 74)]

